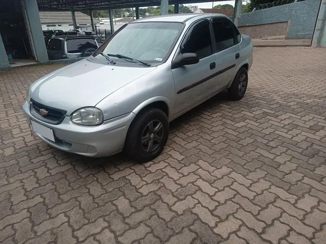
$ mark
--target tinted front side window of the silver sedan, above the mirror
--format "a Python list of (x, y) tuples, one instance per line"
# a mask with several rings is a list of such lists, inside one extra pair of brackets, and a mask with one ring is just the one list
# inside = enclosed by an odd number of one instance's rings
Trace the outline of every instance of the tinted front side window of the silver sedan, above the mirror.
[(201, 20), (190, 29), (190, 33), (186, 36), (185, 42), (181, 46), (181, 52), (193, 52), (199, 58), (209, 56), (212, 53), (209, 21), (207, 19)]

